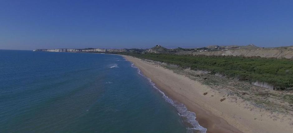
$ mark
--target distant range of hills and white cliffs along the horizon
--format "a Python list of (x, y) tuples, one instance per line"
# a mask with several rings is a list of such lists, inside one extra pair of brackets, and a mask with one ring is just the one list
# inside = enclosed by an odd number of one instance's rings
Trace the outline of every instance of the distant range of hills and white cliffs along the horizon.
[(244, 57), (275, 57), (275, 58), (293, 58), (293, 46), (262, 48), (253, 44), (246, 46), (229, 45), (218, 46), (210, 45), (203, 48), (174, 48), (168, 49), (161, 45), (156, 45), (150, 49), (101, 49), (101, 48), (84, 48), (84, 49), (36, 49), (34, 51), (44, 52), (89, 52), (89, 53), (170, 53), (178, 55), (207, 55), (207, 56), (244, 56)]

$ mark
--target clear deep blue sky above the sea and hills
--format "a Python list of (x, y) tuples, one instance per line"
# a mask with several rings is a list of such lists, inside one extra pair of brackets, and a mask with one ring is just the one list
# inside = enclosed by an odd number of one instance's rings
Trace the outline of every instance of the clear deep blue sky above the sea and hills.
[(0, 0), (0, 49), (293, 45), (293, 1)]

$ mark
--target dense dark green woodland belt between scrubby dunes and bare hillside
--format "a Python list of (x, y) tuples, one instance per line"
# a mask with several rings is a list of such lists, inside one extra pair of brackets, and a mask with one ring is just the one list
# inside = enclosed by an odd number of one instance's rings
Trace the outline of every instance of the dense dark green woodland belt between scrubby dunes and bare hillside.
[[(121, 53), (120, 53), (121, 54)], [(293, 86), (293, 61), (264, 57), (243, 56), (205, 56), (176, 54), (140, 54), (122, 53), (141, 59), (149, 59), (168, 64), (179, 65), (191, 70), (210, 71), (211, 74), (223, 74), (239, 80), (261, 81), (282, 89)]]

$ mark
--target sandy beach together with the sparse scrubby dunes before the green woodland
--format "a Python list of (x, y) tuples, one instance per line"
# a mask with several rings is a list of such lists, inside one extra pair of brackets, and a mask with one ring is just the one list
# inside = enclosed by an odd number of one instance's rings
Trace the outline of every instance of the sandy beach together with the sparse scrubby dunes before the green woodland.
[[(283, 95), (281, 92), (276, 94), (234, 80), (206, 78), (200, 71), (166, 69), (154, 62), (125, 57), (159, 89), (195, 112), (199, 124), (209, 133), (293, 132), (292, 104), (290, 100), (278, 99), (277, 95)], [(202, 77), (204, 79), (199, 80)], [(206, 79), (218, 84), (208, 85)]]

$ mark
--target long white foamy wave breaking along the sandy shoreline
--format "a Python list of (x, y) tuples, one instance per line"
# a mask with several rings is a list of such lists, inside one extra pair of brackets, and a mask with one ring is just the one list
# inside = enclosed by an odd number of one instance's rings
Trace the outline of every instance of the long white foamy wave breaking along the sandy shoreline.
[[(146, 77), (144, 76), (140, 69), (136, 66), (134, 66), (134, 63), (131, 64), (131, 67), (133, 68), (137, 68), (137, 73), (143, 77)], [(179, 103), (177, 101), (173, 101), (171, 98), (169, 98), (168, 96), (165, 95), (164, 92), (162, 92), (160, 89), (158, 89), (156, 86), (155, 86), (155, 83), (153, 83), (151, 81), (150, 78), (146, 77), (147, 80), (149, 80), (150, 84), (153, 86), (153, 88), (155, 88), (156, 90), (158, 90), (162, 95), (163, 95), (163, 98), (166, 100), (166, 102), (170, 103), (171, 105), (173, 105), (177, 112), (178, 112), (178, 115), (182, 118), (183, 122), (187, 122), (189, 123), (192, 127), (187, 127), (187, 133), (206, 133), (207, 129), (200, 126), (199, 123), (195, 120), (195, 113), (194, 112), (190, 112), (187, 110), (186, 106), (182, 103)]]

